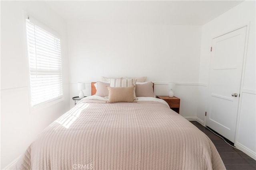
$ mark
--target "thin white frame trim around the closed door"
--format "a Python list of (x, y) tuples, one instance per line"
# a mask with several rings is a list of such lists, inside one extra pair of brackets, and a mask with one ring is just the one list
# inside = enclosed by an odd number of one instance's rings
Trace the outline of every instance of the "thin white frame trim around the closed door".
[[(235, 131), (235, 139), (234, 139), (234, 146), (237, 146), (237, 136), (238, 136), (238, 129), (239, 129), (239, 124), (240, 124), (240, 115), (241, 115), (241, 104), (242, 104), (242, 94), (244, 92), (244, 76), (245, 76), (245, 66), (246, 66), (246, 58), (247, 58), (247, 49), (248, 49), (248, 41), (249, 41), (249, 31), (250, 31), (250, 21), (240, 24), (236, 27), (233, 27), (232, 29), (227, 29), (226, 31), (222, 31), (220, 33), (217, 33), (217, 35), (213, 36), (212, 39), (220, 37), (222, 35), (228, 34), (232, 31), (236, 31), (240, 28), (246, 27), (246, 37), (245, 37), (245, 45), (244, 45), (244, 56), (243, 56), (243, 64), (242, 64), (242, 76), (241, 76), (241, 82), (240, 82), (240, 97), (238, 98), (238, 111), (237, 111), (237, 118), (236, 118), (236, 131)], [(212, 46), (212, 42), (211, 42)], [(210, 57), (212, 58), (212, 53), (210, 54)], [(212, 60), (210, 59), (209, 63), (209, 71), (208, 71), (208, 87), (207, 87), (207, 92), (209, 91), (209, 82), (210, 82), (210, 64)], [(208, 93), (207, 93), (208, 95)], [(208, 96), (207, 96), (208, 97)], [(206, 104), (206, 111), (208, 111), (209, 106)], [(206, 116), (204, 117), (204, 124), (206, 126)]]

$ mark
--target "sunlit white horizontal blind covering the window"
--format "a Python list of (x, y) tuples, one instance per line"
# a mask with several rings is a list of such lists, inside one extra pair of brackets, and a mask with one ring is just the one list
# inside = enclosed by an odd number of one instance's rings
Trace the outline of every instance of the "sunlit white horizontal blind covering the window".
[(32, 106), (62, 96), (60, 39), (26, 21)]

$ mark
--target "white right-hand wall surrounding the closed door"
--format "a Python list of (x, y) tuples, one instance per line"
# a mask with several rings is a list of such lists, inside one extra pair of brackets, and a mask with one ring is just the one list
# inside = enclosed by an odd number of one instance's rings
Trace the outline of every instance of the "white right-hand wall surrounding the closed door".
[[(246, 63), (240, 92), (235, 146), (256, 156), (256, 53), (255, 53), (255, 1), (245, 1), (202, 27), (202, 45), (199, 82), (208, 84), (210, 47), (212, 38), (228, 33), (250, 22)], [(204, 121), (207, 86), (199, 86), (197, 117)]]

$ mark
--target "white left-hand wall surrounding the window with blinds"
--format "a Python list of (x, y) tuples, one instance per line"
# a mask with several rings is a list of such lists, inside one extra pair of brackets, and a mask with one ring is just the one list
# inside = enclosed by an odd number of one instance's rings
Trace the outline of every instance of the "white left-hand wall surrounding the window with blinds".
[[(60, 34), (63, 101), (30, 110), (29, 70), (23, 10)], [(45, 2), (1, 1), (1, 169), (69, 109), (66, 21)]]

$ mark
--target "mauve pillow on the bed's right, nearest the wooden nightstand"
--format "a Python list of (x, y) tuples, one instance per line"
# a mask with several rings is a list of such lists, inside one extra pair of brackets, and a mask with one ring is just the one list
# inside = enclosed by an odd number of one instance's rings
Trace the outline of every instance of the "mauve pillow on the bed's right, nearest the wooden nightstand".
[(136, 84), (135, 92), (137, 97), (155, 97), (152, 82)]

